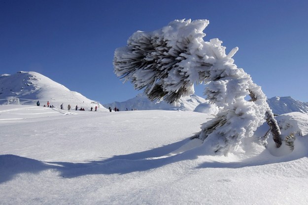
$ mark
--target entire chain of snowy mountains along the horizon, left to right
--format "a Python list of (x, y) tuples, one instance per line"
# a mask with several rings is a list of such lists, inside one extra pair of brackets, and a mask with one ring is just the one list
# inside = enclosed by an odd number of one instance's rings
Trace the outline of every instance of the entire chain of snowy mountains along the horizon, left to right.
[[(182, 97), (177, 106), (167, 102), (151, 102), (145, 94), (138, 94), (136, 97), (124, 102), (111, 102), (100, 104), (90, 100), (82, 94), (70, 91), (64, 85), (53, 81), (52, 79), (34, 71), (18, 71), (14, 74), (0, 75), (0, 104), (14, 103), (14, 99), (19, 99), (22, 104), (34, 105), (37, 100), (41, 105), (50, 105), (60, 107), (60, 104), (72, 107), (76, 105), (82, 107), (96, 106), (102, 107), (100, 110), (108, 111), (107, 108), (117, 107), (120, 111), (124, 110), (188, 110), (216, 114), (218, 108), (210, 104), (204, 98), (197, 95)], [(288, 97), (273, 97), (267, 100), (274, 114), (280, 115), (289, 112), (302, 112), (308, 114), (308, 102), (301, 102)]]

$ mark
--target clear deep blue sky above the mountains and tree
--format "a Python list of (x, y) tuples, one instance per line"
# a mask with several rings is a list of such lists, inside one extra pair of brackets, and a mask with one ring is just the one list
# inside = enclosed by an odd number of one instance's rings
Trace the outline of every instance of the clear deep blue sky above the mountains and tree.
[[(89, 99), (141, 91), (113, 73), (113, 53), (137, 30), (208, 19), (235, 64), (268, 98), (308, 102), (308, 0), (0, 0), (0, 74), (36, 71)], [(204, 86), (195, 88), (203, 96)]]

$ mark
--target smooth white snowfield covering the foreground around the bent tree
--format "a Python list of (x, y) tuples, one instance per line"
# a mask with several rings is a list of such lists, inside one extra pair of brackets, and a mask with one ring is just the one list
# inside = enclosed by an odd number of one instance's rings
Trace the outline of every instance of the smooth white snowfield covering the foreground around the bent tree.
[(0, 204), (308, 204), (308, 115), (291, 152), (255, 136), (227, 156), (190, 140), (211, 119), (192, 111), (75, 111), (0, 106)]

